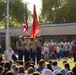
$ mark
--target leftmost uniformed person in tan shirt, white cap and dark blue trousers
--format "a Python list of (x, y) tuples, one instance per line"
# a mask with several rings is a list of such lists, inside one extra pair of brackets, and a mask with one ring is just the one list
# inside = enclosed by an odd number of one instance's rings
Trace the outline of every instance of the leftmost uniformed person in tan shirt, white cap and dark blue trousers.
[(19, 36), (18, 41), (16, 42), (16, 49), (18, 51), (18, 60), (23, 60), (23, 40), (22, 40), (22, 36)]

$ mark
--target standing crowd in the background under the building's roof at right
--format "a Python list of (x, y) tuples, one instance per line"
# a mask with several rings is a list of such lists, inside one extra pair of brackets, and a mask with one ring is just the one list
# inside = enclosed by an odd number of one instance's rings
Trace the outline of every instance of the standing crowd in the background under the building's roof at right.
[[(76, 54), (74, 49), (75, 43), (61, 42), (61, 43), (44, 43), (41, 48), (42, 57), (45, 60), (49, 59), (69, 59)], [(74, 61), (76, 58), (74, 57)]]

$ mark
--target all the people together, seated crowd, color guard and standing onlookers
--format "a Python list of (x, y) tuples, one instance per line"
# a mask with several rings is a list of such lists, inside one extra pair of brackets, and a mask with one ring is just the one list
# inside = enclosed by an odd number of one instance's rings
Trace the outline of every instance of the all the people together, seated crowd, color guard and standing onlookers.
[[(76, 65), (71, 69), (66, 60), (74, 58), (76, 62), (76, 43), (42, 44), (40, 37), (20, 36), (16, 50), (18, 57), (11, 47), (5, 50), (4, 56), (0, 51), (0, 75), (76, 75)], [(62, 60), (64, 68), (58, 64), (61, 59), (65, 59)]]

